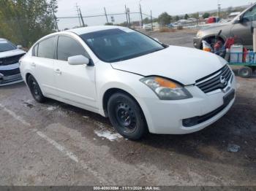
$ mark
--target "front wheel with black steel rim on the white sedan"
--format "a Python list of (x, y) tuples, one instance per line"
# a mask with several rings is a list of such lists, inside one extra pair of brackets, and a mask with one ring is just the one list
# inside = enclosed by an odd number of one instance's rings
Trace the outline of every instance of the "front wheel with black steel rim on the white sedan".
[(108, 116), (116, 131), (127, 139), (141, 139), (148, 131), (140, 106), (124, 93), (111, 95), (108, 100)]

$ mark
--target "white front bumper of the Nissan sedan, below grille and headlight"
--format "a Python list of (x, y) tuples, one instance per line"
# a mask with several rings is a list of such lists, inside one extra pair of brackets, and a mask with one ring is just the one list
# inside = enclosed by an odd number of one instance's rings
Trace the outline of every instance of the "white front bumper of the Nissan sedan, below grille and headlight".
[[(216, 90), (206, 94), (198, 87), (190, 86), (187, 87), (187, 90), (192, 93), (193, 98), (177, 101), (144, 98), (142, 107), (146, 121), (148, 122), (149, 131), (157, 134), (186, 134), (206, 128), (208, 125), (219, 120), (233, 106), (235, 97), (228, 103), (224, 103), (223, 98), (230, 91), (236, 90), (235, 78), (230, 82), (228, 89), (227, 92)], [(224, 107), (222, 107), (223, 105)], [(217, 112), (214, 113), (214, 111)], [(184, 125), (184, 120), (186, 119), (204, 117), (212, 113), (214, 114), (203, 120), (203, 122), (192, 126)]]

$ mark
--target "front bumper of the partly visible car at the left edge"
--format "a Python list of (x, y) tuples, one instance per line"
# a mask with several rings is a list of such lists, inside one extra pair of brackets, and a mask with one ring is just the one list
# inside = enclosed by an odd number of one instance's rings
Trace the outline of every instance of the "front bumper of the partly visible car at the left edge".
[(12, 85), (18, 82), (23, 82), (18, 63), (0, 67), (0, 86)]

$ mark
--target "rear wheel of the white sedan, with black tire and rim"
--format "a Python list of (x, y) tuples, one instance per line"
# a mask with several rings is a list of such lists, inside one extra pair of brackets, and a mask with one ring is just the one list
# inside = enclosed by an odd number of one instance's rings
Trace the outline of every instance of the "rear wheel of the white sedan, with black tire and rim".
[(46, 98), (42, 95), (42, 90), (40, 89), (37, 80), (31, 75), (28, 77), (28, 85), (33, 98), (39, 103), (45, 102)]

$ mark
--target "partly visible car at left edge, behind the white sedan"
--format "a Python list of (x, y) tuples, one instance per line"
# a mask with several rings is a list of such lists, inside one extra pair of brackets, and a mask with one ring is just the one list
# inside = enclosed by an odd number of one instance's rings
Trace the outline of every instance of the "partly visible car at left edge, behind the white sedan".
[(26, 54), (6, 39), (0, 39), (0, 86), (22, 82), (19, 60)]

